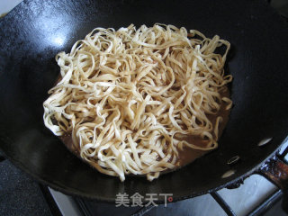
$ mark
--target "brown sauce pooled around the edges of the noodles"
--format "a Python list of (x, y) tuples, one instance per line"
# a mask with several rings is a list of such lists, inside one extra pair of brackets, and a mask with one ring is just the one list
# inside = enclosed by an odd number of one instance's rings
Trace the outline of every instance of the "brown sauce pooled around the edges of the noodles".
[[(221, 96), (225, 96), (229, 98), (229, 90), (228, 88), (226, 88), (223, 92), (220, 93)], [(211, 121), (212, 125), (213, 125), (213, 129), (215, 126), (215, 122), (218, 116), (221, 116), (223, 118), (223, 120), (220, 122), (219, 124), (219, 135), (218, 135), (218, 139), (220, 139), (220, 136), (229, 120), (229, 112), (230, 110), (226, 110), (226, 106), (227, 103), (222, 102), (221, 106), (220, 106), (220, 111), (218, 112), (218, 114), (214, 114), (214, 115), (208, 115), (208, 119)], [(77, 157), (80, 157), (79, 154), (79, 148), (76, 147), (73, 144), (73, 140), (71, 137), (70, 133), (66, 133), (63, 136), (59, 137), (62, 142), (65, 144), (65, 146), (72, 151), (74, 154), (76, 154)], [(206, 142), (205, 140), (203, 140), (200, 137), (196, 137), (196, 136), (188, 136), (187, 138), (185, 138), (185, 140), (189, 143), (193, 143), (196, 146), (199, 147), (205, 147), (206, 146)], [(188, 147), (184, 147), (183, 150), (178, 149), (179, 152), (179, 156), (178, 156), (178, 160), (176, 162), (176, 166), (177, 168), (181, 167), (181, 166), (185, 166), (187, 164), (190, 164), (191, 162), (193, 162), (193, 160), (195, 160), (198, 157), (202, 157), (204, 154), (206, 154), (207, 152), (209, 152), (209, 150), (199, 150), (199, 149), (193, 149), (193, 148), (188, 148)], [(164, 171), (164, 173), (167, 172), (171, 172), (172, 170), (166, 170)]]

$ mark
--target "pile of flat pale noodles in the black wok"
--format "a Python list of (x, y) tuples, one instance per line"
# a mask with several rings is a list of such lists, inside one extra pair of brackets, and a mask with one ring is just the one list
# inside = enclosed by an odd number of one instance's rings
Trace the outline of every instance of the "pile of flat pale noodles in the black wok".
[(178, 165), (180, 149), (217, 148), (222, 119), (212, 125), (207, 115), (221, 103), (231, 107), (220, 95), (232, 79), (223, 70), (229, 46), (173, 25), (96, 28), (56, 56), (61, 79), (43, 103), (45, 125), (57, 136), (72, 134), (79, 155), (101, 173), (151, 181)]

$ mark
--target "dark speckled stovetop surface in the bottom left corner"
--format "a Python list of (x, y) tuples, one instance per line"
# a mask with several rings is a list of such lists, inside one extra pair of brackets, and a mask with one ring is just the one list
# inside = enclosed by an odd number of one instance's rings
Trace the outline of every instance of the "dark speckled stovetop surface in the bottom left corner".
[(52, 215), (40, 185), (8, 160), (0, 162), (0, 215)]

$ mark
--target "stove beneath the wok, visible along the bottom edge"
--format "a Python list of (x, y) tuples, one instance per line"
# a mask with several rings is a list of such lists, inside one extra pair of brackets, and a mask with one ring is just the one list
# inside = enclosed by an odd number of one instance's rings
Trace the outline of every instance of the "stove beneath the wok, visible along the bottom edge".
[[(284, 150), (286, 149), (286, 150)], [(280, 154), (287, 152), (288, 141)], [(288, 154), (284, 157), (288, 161)], [(192, 199), (158, 206), (116, 207), (59, 193), (35, 183), (0, 154), (0, 215), (287, 215), (281, 207), (283, 193), (261, 175), (251, 175), (236, 189), (221, 189)]]

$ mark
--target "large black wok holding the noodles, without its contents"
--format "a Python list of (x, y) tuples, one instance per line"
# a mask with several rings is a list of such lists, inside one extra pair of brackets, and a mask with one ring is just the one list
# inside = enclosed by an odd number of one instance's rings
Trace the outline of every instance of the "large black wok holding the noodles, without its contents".
[[(234, 106), (219, 148), (153, 182), (129, 176), (121, 183), (100, 174), (70, 153), (42, 120), (42, 103), (59, 73), (55, 55), (95, 27), (130, 23), (184, 26), (207, 37), (218, 34), (232, 45), (226, 70), (234, 77)], [(288, 134), (287, 39), (287, 24), (263, 0), (26, 0), (0, 21), (0, 148), (40, 183), (98, 201), (135, 192), (173, 193), (178, 201), (235, 185), (271, 168), (266, 161)], [(235, 156), (240, 160), (229, 165)], [(228, 176), (230, 170), (235, 173)]]

